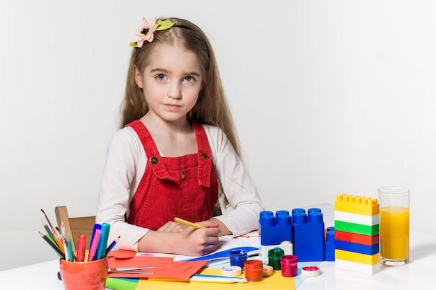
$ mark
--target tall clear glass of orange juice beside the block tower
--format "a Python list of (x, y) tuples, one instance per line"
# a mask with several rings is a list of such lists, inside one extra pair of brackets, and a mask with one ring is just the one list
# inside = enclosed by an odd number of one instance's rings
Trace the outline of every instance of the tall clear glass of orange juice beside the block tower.
[(387, 186), (378, 190), (380, 204), (380, 262), (387, 266), (409, 262), (410, 189)]

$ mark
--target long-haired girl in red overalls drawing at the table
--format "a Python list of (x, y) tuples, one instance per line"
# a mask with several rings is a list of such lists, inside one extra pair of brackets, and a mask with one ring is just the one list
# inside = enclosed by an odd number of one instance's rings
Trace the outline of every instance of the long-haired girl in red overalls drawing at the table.
[[(97, 223), (111, 225), (120, 249), (190, 256), (214, 250), (220, 234), (257, 229), (264, 206), (240, 160), (205, 33), (184, 19), (143, 18), (130, 45), (122, 129), (107, 150)], [(212, 217), (219, 191), (231, 210)]]

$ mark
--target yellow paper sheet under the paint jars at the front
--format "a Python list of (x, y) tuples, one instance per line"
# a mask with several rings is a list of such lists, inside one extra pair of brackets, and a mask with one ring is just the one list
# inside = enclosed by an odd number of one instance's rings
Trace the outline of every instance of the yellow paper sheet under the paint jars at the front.
[[(221, 269), (205, 268), (201, 274), (221, 275)], [(244, 273), (239, 277), (244, 277)], [(211, 283), (211, 282), (175, 282), (162, 280), (139, 280), (136, 290), (173, 290), (173, 289), (198, 289), (198, 290), (226, 290), (226, 289), (283, 289), (295, 290), (293, 277), (283, 277), (281, 271), (274, 271), (270, 277), (264, 277), (259, 282), (248, 283)]]

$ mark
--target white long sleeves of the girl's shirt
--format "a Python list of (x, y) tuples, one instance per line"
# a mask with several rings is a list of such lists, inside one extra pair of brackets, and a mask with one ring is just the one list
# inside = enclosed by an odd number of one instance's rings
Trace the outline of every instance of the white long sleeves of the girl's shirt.
[[(212, 161), (231, 210), (217, 216), (233, 236), (258, 228), (260, 211), (265, 210), (251, 177), (221, 129), (203, 125)], [(162, 154), (161, 154), (162, 156)], [(109, 241), (120, 236), (117, 248), (138, 250), (138, 241), (149, 229), (125, 222), (130, 202), (146, 170), (147, 156), (131, 127), (116, 132), (109, 143), (98, 196), (96, 223), (111, 225)]]

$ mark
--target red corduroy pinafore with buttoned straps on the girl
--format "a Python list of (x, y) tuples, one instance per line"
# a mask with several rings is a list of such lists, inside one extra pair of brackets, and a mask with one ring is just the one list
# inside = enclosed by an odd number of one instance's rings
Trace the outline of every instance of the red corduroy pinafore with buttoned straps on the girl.
[(148, 157), (146, 171), (130, 202), (127, 223), (159, 229), (174, 217), (193, 223), (212, 218), (218, 200), (218, 181), (203, 126), (192, 122), (198, 152), (162, 157), (146, 126), (127, 124), (137, 132)]

